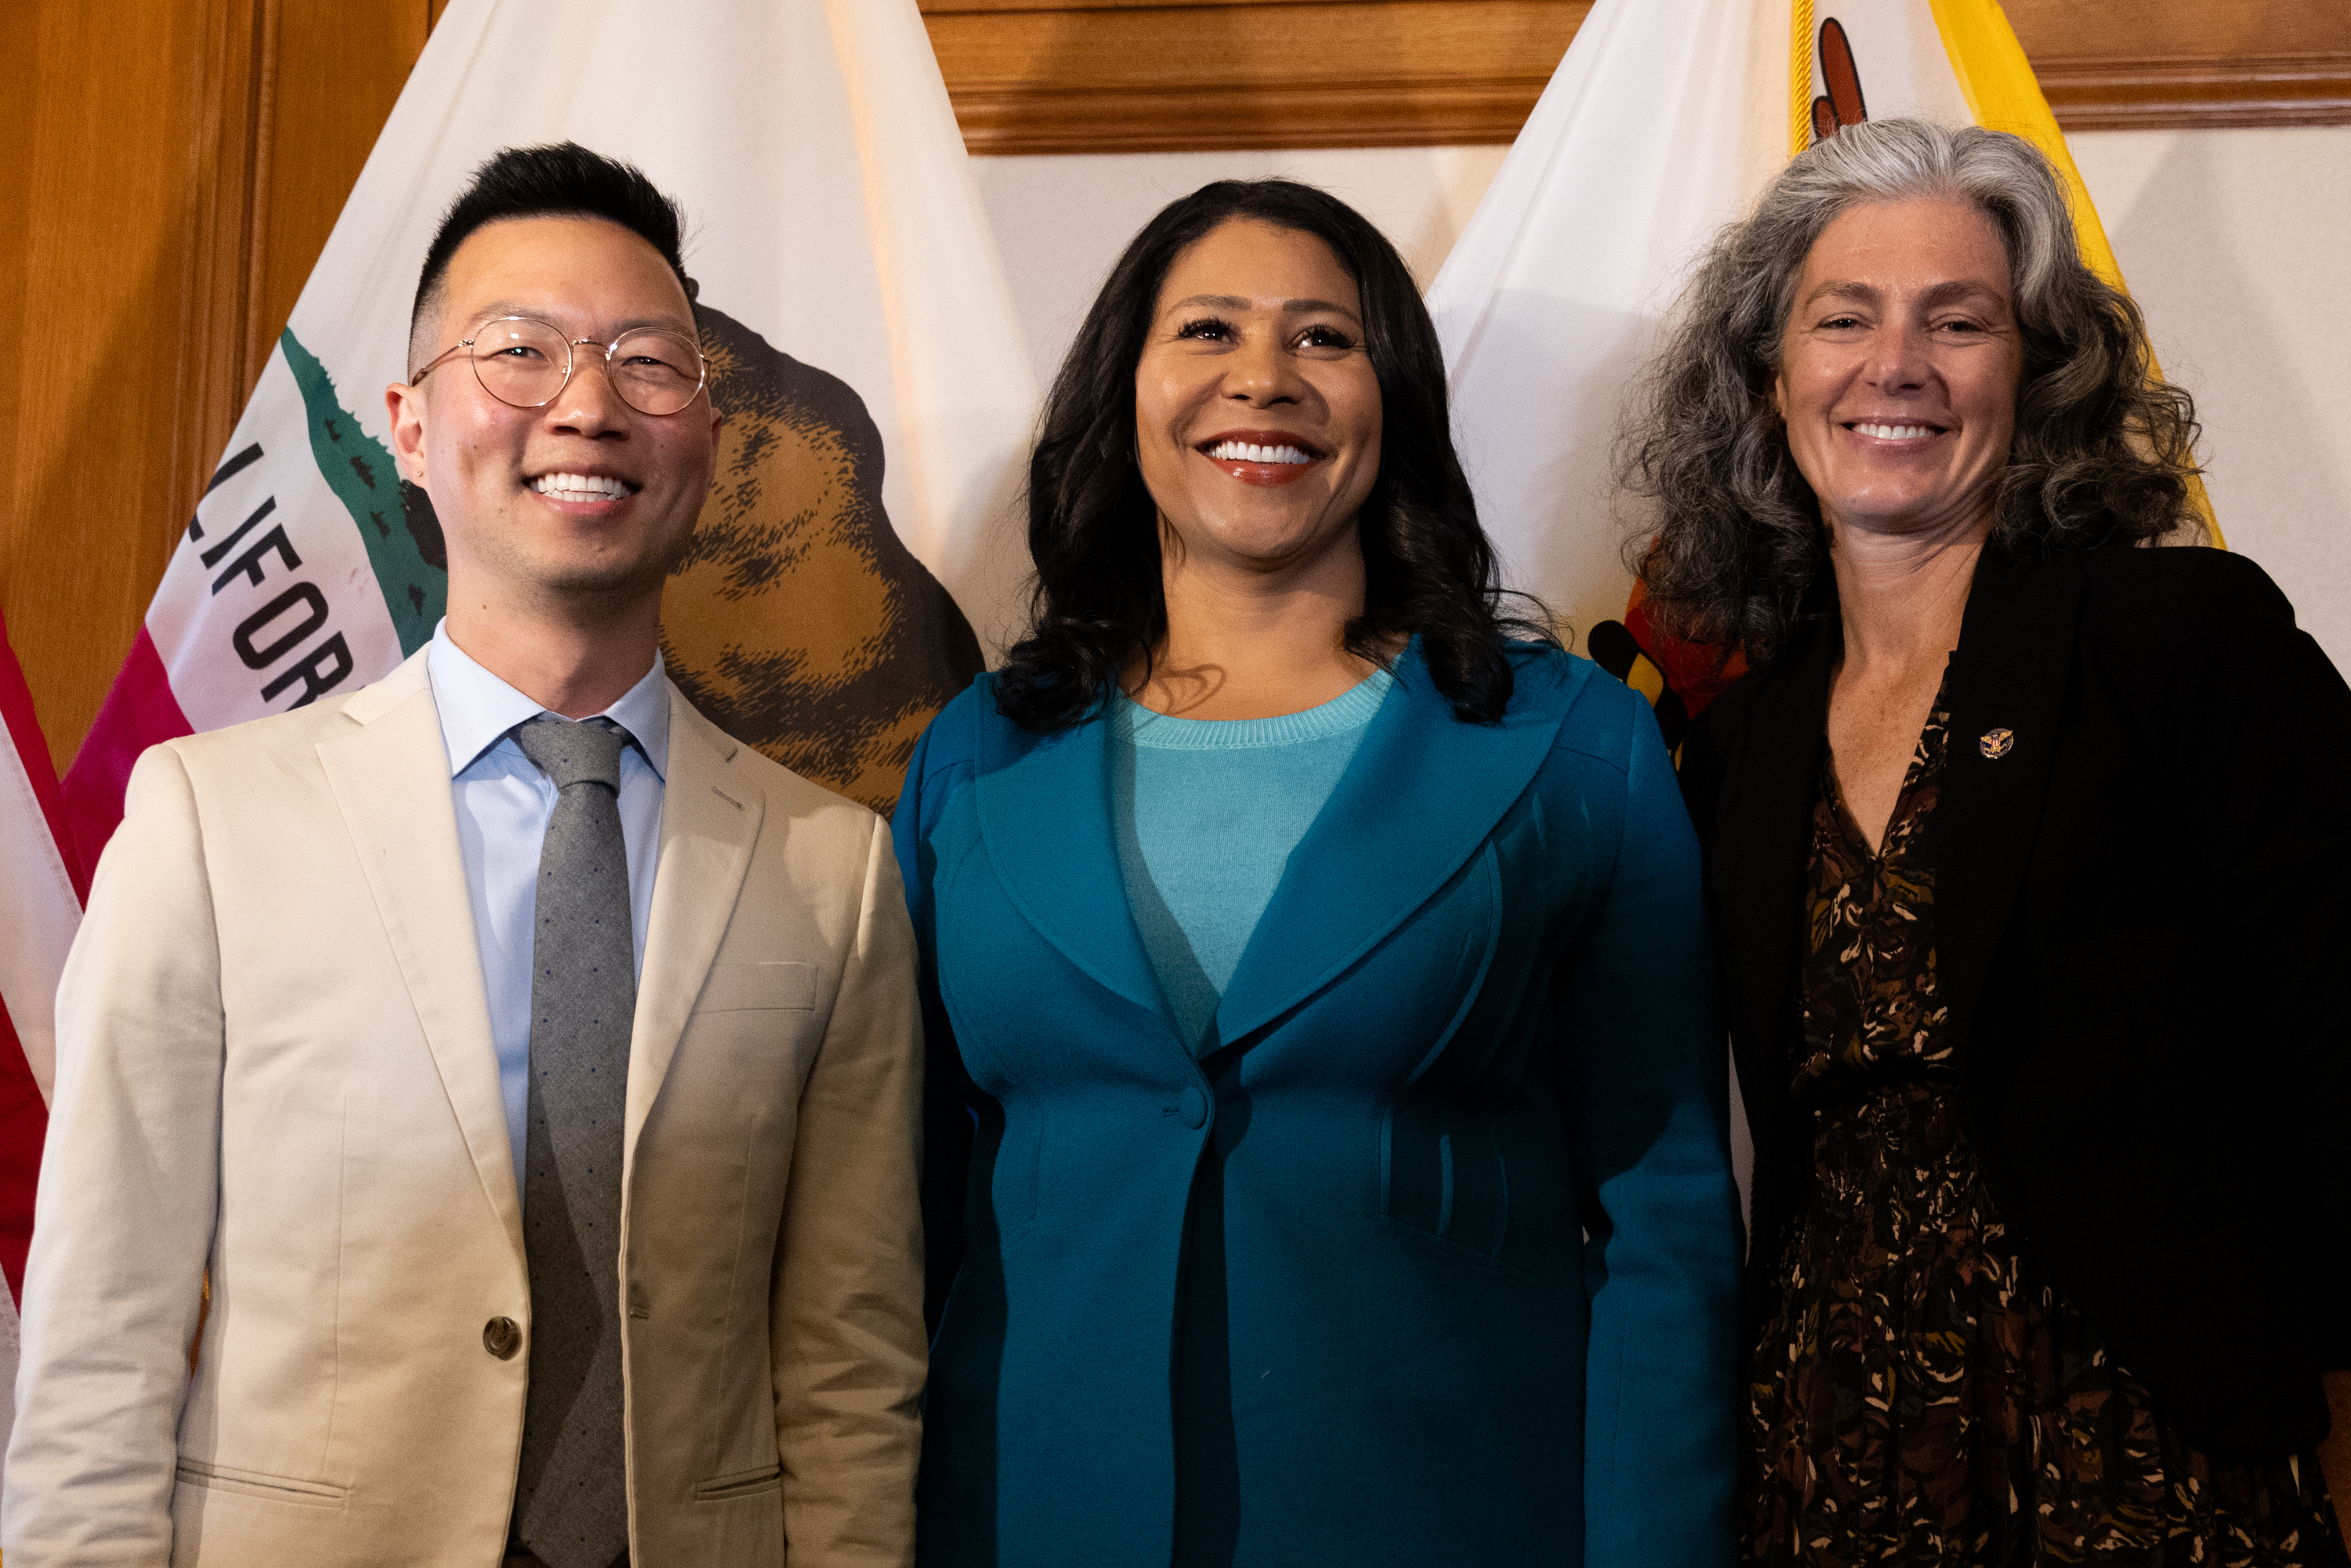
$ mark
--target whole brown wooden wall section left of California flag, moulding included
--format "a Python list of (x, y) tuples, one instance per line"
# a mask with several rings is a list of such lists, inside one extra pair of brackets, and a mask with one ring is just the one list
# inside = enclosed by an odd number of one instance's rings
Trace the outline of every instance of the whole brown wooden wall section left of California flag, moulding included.
[(19, 0), (0, 607), (63, 766), (327, 242), (430, 0)]

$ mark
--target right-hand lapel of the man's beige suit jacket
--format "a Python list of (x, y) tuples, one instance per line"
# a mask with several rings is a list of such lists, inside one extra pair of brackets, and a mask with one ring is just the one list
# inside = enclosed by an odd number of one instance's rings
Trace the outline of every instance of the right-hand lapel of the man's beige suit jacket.
[(710, 978), (750, 870), (766, 797), (731, 778), (736, 741), (670, 686), (670, 762), (661, 790), (661, 863), (644, 933), (637, 1020), (628, 1041), (628, 1152), (661, 1098), (686, 1013)]

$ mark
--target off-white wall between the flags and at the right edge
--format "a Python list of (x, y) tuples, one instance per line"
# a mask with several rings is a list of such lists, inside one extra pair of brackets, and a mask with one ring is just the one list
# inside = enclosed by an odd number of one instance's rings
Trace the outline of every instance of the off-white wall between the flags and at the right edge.
[[(2351, 127), (2071, 139), (2168, 376), (2196, 395), (2229, 545), (2351, 668)], [(1126, 240), (1211, 179), (1288, 174), (1373, 219), (1427, 287), (1502, 148), (978, 158), (1037, 374)], [(2337, 397), (2346, 397), (2337, 402)], [(2255, 672), (2248, 672), (2255, 677)]]

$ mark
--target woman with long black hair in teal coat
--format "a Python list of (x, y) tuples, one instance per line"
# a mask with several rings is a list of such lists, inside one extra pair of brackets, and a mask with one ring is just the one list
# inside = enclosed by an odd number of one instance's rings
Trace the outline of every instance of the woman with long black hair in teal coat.
[(1695, 844), (1648, 705), (1502, 616), (1394, 249), (1286, 181), (1161, 212), (1030, 548), (896, 820), (922, 1563), (1728, 1563)]

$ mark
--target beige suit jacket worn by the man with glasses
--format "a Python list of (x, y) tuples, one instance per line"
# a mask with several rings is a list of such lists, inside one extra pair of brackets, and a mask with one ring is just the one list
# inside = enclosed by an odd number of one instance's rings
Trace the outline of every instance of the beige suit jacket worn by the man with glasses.
[[(670, 712), (623, 1166), (632, 1561), (910, 1563), (919, 1023), (889, 830)], [(494, 1568), (529, 1324), (423, 654), (153, 748), (59, 990), (7, 1568)]]

